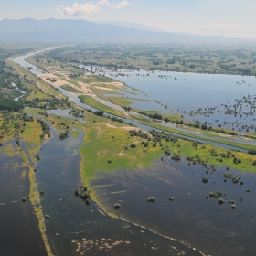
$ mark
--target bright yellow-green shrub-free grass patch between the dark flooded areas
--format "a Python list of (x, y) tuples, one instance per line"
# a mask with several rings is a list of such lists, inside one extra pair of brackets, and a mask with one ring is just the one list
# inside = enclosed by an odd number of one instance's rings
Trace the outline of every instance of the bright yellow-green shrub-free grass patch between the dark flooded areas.
[[(86, 186), (89, 186), (91, 178), (96, 177), (96, 171), (104, 170), (112, 172), (117, 169), (135, 169), (142, 166), (152, 165), (152, 160), (161, 156), (159, 148), (151, 147), (144, 153), (142, 144), (136, 148), (125, 150), (124, 147), (135, 143), (140, 139), (128, 139), (127, 131), (107, 127), (104, 123), (87, 123), (87, 130), (84, 136), (84, 144), (80, 147), (82, 161), (80, 165), (80, 176)], [(114, 140), (112, 140), (114, 136)], [(93, 159), (88, 162), (86, 159)], [(107, 161), (112, 159), (112, 164)]]

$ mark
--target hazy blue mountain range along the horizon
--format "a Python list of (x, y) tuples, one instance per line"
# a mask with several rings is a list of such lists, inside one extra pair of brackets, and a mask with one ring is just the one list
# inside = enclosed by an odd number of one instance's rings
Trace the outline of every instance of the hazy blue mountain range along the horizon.
[(0, 21), (0, 42), (77, 43), (96, 42), (244, 42), (231, 37), (197, 36), (185, 33), (155, 32), (86, 20), (45, 19)]

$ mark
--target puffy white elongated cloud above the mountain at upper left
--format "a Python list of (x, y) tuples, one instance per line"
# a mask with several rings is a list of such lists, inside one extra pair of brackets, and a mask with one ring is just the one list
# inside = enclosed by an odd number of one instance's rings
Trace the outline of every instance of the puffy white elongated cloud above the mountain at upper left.
[(99, 0), (96, 4), (86, 3), (84, 5), (74, 3), (72, 7), (59, 5), (57, 6), (57, 12), (60, 15), (64, 16), (84, 16), (90, 15), (93, 13), (100, 13), (102, 11), (101, 6), (106, 5), (112, 7), (113, 10), (121, 9), (130, 3), (127, 0), (123, 0), (123, 2), (113, 5), (108, 0)]

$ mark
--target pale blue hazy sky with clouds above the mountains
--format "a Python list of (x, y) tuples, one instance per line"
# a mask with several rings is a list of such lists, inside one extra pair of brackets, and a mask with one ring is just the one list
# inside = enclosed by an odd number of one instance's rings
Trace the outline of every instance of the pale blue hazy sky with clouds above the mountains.
[(86, 19), (256, 38), (256, 0), (0, 0), (0, 19)]

